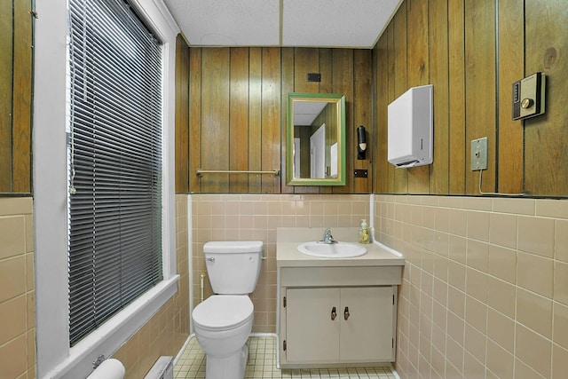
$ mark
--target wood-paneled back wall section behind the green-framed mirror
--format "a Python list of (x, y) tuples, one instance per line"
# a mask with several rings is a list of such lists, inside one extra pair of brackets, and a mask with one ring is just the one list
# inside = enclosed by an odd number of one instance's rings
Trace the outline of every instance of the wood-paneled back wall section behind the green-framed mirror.
[[(177, 46), (177, 193), (371, 193), (353, 178), (371, 162), (356, 159), (356, 128), (372, 123), (372, 51), (316, 48)], [(320, 83), (306, 74), (319, 72)], [(286, 185), (288, 92), (343, 93), (346, 186)], [(187, 114), (181, 109), (188, 104)], [(367, 155), (369, 157), (371, 155)], [(195, 170), (280, 170), (281, 177)]]

